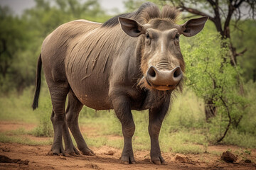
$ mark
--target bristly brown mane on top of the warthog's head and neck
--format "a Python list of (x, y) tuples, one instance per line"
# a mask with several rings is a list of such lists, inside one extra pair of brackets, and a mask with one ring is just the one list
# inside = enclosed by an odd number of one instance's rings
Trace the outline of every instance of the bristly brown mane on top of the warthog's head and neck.
[(132, 18), (139, 23), (145, 24), (153, 18), (165, 18), (176, 22), (178, 20), (178, 16), (179, 11), (175, 7), (166, 5), (162, 8), (162, 11), (160, 11), (158, 6), (156, 6), (155, 4), (151, 2), (146, 2), (142, 4), (142, 6), (140, 6), (137, 11), (134, 11), (132, 13), (124, 13), (119, 16), (114, 16), (113, 18), (110, 18), (110, 20), (102, 24), (102, 27), (117, 26), (117, 24), (119, 23), (119, 17)]

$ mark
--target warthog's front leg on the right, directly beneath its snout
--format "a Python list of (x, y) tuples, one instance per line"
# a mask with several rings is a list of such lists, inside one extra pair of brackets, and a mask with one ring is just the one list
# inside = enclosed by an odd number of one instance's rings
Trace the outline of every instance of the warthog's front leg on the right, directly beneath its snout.
[(161, 150), (159, 146), (159, 132), (161, 124), (169, 109), (170, 99), (164, 101), (159, 107), (149, 109), (149, 136), (151, 140), (150, 157), (154, 164), (166, 164), (163, 157), (161, 157)]

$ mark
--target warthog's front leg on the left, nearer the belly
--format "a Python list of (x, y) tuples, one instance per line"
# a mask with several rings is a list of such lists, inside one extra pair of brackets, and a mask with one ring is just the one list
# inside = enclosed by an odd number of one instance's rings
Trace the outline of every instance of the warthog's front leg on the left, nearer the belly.
[(122, 134), (124, 136), (124, 149), (121, 161), (123, 164), (135, 164), (132, 150), (132, 136), (135, 131), (135, 124), (132, 118), (130, 101), (127, 96), (118, 96), (113, 100), (114, 112), (122, 124)]

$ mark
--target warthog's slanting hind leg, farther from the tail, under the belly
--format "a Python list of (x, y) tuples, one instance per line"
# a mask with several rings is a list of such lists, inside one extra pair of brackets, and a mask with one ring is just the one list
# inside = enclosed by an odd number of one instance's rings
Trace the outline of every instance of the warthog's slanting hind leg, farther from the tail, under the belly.
[(72, 132), (75, 142), (78, 145), (78, 149), (85, 155), (95, 155), (91, 149), (87, 147), (87, 144), (82, 137), (80, 128), (78, 125), (78, 116), (82, 109), (83, 104), (78, 100), (78, 98), (70, 91), (68, 94), (68, 109), (66, 112), (66, 118), (68, 123), (68, 128)]

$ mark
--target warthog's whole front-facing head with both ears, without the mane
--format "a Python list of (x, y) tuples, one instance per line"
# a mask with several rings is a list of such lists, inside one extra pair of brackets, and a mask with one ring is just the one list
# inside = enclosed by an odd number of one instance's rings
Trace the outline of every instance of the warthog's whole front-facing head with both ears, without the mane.
[(196, 35), (203, 29), (207, 19), (208, 16), (205, 16), (178, 25), (168, 17), (151, 18), (144, 24), (128, 18), (119, 18), (122, 30), (127, 35), (142, 35), (137, 45), (137, 54), (141, 55), (140, 64), (144, 76), (139, 84), (147, 89), (174, 90), (181, 83), (185, 72), (179, 36)]

